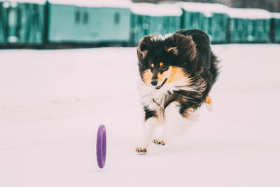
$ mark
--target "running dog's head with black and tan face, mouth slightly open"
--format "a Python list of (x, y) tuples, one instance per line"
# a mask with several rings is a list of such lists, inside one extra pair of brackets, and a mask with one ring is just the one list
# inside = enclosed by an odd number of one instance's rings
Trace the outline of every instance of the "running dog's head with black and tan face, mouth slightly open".
[(186, 85), (197, 57), (192, 36), (148, 35), (137, 48), (139, 72), (144, 83), (159, 90), (167, 84)]

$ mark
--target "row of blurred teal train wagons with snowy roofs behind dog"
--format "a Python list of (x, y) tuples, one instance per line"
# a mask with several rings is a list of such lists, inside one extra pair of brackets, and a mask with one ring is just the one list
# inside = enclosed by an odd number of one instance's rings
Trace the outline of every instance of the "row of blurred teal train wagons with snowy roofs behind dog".
[(114, 6), (85, 1), (0, 1), (0, 20), (2, 48), (135, 46), (147, 34), (178, 29), (201, 29), (212, 43), (280, 43), (280, 13), (221, 4), (127, 1)]

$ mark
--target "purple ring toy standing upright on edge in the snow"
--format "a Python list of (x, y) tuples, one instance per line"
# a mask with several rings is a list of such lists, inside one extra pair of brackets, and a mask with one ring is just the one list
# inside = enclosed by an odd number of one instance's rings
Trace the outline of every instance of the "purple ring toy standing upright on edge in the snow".
[(97, 164), (103, 168), (106, 160), (106, 128), (100, 125), (97, 132)]

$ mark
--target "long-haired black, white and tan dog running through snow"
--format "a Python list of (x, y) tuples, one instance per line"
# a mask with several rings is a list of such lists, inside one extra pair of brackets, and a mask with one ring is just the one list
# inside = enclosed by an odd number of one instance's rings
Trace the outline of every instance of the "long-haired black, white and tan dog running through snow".
[[(144, 36), (137, 47), (139, 95), (144, 109), (143, 139), (137, 153), (150, 144), (165, 145), (177, 125), (190, 127), (218, 78), (218, 58), (209, 36), (197, 29)], [(155, 128), (163, 125), (155, 138)], [(180, 131), (180, 130), (179, 130)]]

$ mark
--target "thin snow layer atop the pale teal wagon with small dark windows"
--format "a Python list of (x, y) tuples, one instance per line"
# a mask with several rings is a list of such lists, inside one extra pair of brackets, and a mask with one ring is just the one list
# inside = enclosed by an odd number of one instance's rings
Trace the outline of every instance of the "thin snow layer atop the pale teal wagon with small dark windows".
[(132, 1), (130, 0), (49, 0), (50, 4), (63, 4), (73, 6), (86, 6), (86, 7), (118, 7), (129, 8)]

